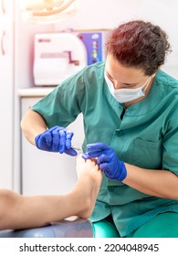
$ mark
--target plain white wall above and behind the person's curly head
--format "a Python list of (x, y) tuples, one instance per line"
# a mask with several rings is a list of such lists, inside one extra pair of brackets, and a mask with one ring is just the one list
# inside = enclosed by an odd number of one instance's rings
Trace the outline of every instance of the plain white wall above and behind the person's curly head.
[(165, 69), (178, 79), (177, 0), (80, 0), (79, 14), (56, 24), (55, 30), (114, 28), (131, 19), (151, 21), (167, 32), (173, 53)]

